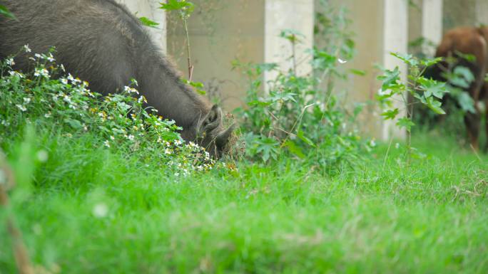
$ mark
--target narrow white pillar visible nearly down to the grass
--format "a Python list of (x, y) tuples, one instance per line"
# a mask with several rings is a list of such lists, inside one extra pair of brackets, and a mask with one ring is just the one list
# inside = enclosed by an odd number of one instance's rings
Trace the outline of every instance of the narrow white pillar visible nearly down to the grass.
[[(408, 44), (408, 3), (405, 0), (384, 0), (383, 9), (384, 33), (383, 33), (383, 65), (393, 69), (399, 67), (401, 78), (407, 79), (407, 65), (401, 60), (390, 55), (392, 52), (407, 53)], [(401, 96), (395, 100), (395, 106), (399, 110), (405, 110), (405, 104), (400, 102)], [(404, 112), (400, 112), (405, 115)], [(395, 125), (396, 120), (387, 120), (383, 123), (382, 139), (390, 137), (405, 137), (404, 130), (399, 130)]]

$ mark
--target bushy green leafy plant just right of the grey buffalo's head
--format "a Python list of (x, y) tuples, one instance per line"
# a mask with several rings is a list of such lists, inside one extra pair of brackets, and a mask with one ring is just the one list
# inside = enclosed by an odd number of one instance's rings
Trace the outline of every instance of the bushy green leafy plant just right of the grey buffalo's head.
[[(287, 30), (280, 37), (295, 48), (302, 36)], [(310, 51), (314, 52), (317, 53)], [(327, 70), (339, 64), (338, 59), (322, 52), (314, 56), (312, 66)], [(248, 132), (244, 136), (246, 153), (263, 162), (291, 155), (329, 171), (338, 164), (350, 163), (367, 147), (355, 130), (355, 118), (361, 107), (350, 114), (338, 104), (335, 95), (318, 88), (319, 77), (315, 74), (297, 75), (294, 54), (290, 60), (293, 64), (287, 72), (279, 70), (275, 63), (253, 65), (235, 61), (233, 64), (245, 71), (250, 83), (246, 96), (248, 107), (238, 110), (243, 131)], [(276, 78), (263, 83), (265, 71), (275, 71)], [(263, 94), (264, 87), (268, 89), (266, 94)]]

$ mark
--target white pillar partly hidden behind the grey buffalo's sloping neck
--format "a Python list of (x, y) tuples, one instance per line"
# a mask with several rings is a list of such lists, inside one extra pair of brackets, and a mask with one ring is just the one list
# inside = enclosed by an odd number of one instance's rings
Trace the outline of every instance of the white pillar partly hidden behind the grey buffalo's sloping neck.
[(151, 21), (159, 23), (157, 28), (148, 28), (156, 44), (166, 53), (166, 13), (158, 9), (161, 1), (158, 0), (117, 0), (125, 4), (137, 17), (147, 17)]

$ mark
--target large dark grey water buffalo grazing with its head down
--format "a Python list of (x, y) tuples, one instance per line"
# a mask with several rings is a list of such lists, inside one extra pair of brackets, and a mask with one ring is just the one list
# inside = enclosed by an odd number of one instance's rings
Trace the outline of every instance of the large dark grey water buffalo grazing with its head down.
[[(223, 127), (220, 108), (197, 95), (166, 60), (141, 22), (113, 0), (0, 0), (18, 21), (0, 16), (0, 58), (26, 44), (35, 53), (56, 47), (67, 72), (106, 95), (134, 78), (148, 105), (183, 128), (181, 136), (220, 157), (233, 128)], [(29, 60), (16, 57), (16, 69)]]

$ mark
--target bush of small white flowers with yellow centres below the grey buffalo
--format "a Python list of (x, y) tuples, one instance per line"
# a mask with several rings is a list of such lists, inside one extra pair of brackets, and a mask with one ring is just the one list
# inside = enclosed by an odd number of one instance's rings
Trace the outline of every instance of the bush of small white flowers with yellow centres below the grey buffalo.
[[(29, 46), (24, 51), (29, 53)], [(38, 125), (56, 122), (63, 136), (74, 138), (89, 132), (101, 147), (157, 162), (177, 176), (220, 167), (205, 149), (183, 142), (178, 133), (181, 128), (174, 121), (145, 108), (146, 98), (139, 94), (135, 80), (119, 93), (102, 97), (85, 81), (66, 75), (52, 53), (34, 54), (29, 59), (35, 69), (25, 74), (12, 69), (12, 57), (0, 63), (0, 135), (9, 136), (26, 120)]]

